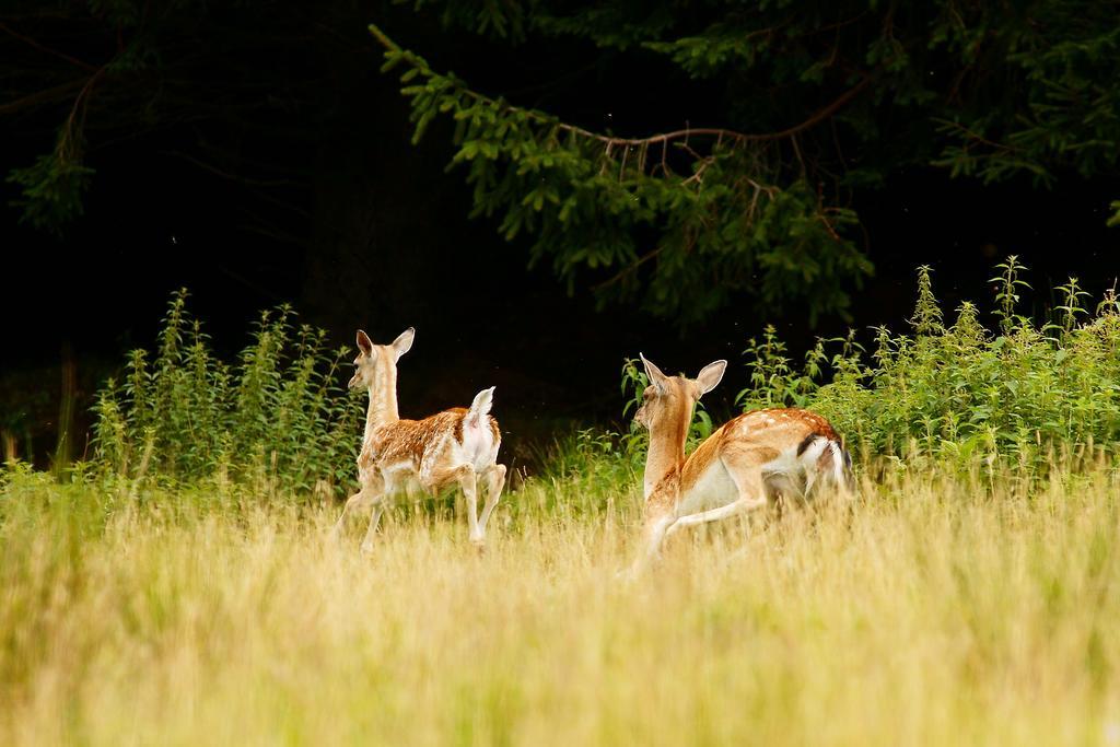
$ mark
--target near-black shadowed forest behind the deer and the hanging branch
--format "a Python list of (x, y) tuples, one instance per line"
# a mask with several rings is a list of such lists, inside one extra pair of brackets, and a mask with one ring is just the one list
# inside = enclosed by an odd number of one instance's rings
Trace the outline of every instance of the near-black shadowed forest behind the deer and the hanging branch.
[[(337, 345), (353, 345), (357, 327), (388, 342), (414, 326), (402, 414), (465, 404), (496, 384), (495, 413), (525, 458), (558, 428), (619, 421), (619, 368), (638, 351), (694, 374), (713, 358), (737, 362), (768, 323), (795, 355), (816, 335), (902, 328), (922, 264), (950, 309), (987, 305), (1008, 254), (1030, 268), (1035, 310), (1052, 300), (1040, 289), (1068, 276), (1100, 295), (1120, 274), (1120, 230), (1107, 225), (1120, 198), (1118, 3), (4, 6), (0, 424), (29, 432), (40, 461), (64, 373), (76, 375), (82, 428), (99, 382), (152, 344), (180, 287), (228, 355), (260, 309), (288, 301)], [(626, 137), (685, 123), (777, 132), (857, 88), (780, 146), (766, 176), (775, 189), (827, 181), (822, 204), (858, 216), (842, 239), (874, 273), (815, 281), (842, 289), (842, 308), (786, 286), (772, 304), (744, 255), (745, 271), (715, 263), (699, 284), (682, 281), (673, 308), (725, 276), (734, 286), (682, 325), (644, 292), (654, 263), (628, 290), (595, 290), (644, 252), (603, 268), (564, 269), (550, 255), (530, 267), (539, 232), (506, 240), (504, 207), (468, 217), (477, 195), (447, 166), (470, 133), (456, 141), (454, 122), (437, 116), (413, 144), (410, 115), (422, 111), (401, 95), (402, 69), (380, 72), (385, 48), (371, 22), (472, 91)], [(681, 62), (682, 40), (730, 52), (698, 71)], [(1024, 50), (1057, 57), (1030, 68)], [(820, 60), (823, 72), (806, 75)], [(1036, 100), (1036, 86), (1064, 93)], [(734, 171), (741, 151), (709, 148), (697, 162), (726, 157)], [(846, 159), (851, 170), (836, 176)], [(696, 169), (672, 166), (684, 177), (674, 188)], [(652, 178), (634, 175), (634, 188)], [(634, 245), (659, 245), (659, 225), (635, 226)], [(728, 411), (745, 381), (732, 366), (712, 409)]]

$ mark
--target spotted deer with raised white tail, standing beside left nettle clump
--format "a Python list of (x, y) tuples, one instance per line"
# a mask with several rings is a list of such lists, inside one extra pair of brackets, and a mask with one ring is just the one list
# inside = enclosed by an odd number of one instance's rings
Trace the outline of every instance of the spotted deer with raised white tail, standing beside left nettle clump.
[[(469, 539), (479, 549), (486, 540), (486, 522), (505, 485), (505, 465), (497, 464), (502, 435), (489, 411), (494, 387), (475, 395), (469, 408), (451, 408), (423, 420), (402, 420), (396, 410), (396, 362), (412, 347), (416, 329), (409, 327), (389, 345), (374, 345), (357, 330), (358, 354), (354, 358), (352, 391), (370, 394), (365, 433), (357, 457), (360, 489), (349, 496), (333, 535), (337, 541), (346, 517), (370, 508), (373, 515), (362, 542), (362, 552), (373, 550), (373, 538), (386, 505), (400, 491), (419, 484), (427, 494), (458, 487), (467, 504)], [(486, 504), (478, 515), (478, 487), (486, 486)]]

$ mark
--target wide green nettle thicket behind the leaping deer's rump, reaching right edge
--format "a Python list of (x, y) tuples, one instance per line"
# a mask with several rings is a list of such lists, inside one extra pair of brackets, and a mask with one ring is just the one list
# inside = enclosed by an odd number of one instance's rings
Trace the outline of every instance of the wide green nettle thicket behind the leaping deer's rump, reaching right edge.
[(987, 329), (969, 302), (946, 327), (930, 270), (922, 268), (913, 334), (880, 329), (869, 357), (849, 337), (828, 365), (824, 349), (836, 340), (820, 340), (799, 373), (767, 329), (764, 342), (747, 349), (752, 386), (739, 402), (818, 410), (867, 457), (1039, 466), (1120, 445), (1116, 295), (1091, 309), (1071, 279), (1056, 289), (1062, 302), (1052, 319), (1036, 325), (1015, 314), (1026, 287), (1023, 267), (1012, 256), (999, 269), (999, 332)]

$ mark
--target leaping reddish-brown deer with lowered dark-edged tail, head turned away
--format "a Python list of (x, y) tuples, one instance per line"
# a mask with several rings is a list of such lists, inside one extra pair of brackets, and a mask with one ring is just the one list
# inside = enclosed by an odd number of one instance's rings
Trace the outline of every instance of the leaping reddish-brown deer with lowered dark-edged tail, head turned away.
[(727, 361), (709, 363), (688, 379), (666, 376), (638, 357), (650, 383), (634, 420), (650, 431), (650, 448), (643, 477), (645, 552), (632, 576), (688, 526), (749, 514), (778, 495), (809, 497), (825, 484), (850, 497), (851, 457), (839, 435), (825, 418), (800, 408), (732, 418), (685, 457), (696, 404), (722, 380)]

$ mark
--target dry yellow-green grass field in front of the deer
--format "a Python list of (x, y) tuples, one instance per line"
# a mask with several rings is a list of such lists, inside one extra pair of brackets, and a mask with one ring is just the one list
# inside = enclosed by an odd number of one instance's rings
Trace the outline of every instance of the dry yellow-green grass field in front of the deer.
[[(589, 492), (597, 492), (589, 495)], [(0, 744), (1120, 744), (1120, 478), (936, 469), (681, 536), (530, 480), (479, 557), (396, 512), (0, 494)]]

